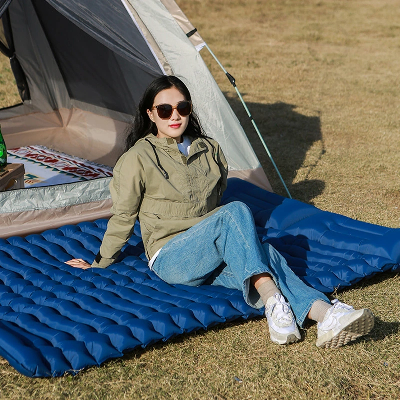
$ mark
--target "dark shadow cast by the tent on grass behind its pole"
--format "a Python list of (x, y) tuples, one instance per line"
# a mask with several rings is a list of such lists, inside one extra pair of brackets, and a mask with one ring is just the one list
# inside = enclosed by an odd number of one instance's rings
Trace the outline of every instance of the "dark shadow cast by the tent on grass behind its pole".
[[(227, 99), (239, 118), (273, 189), (276, 193), (287, 196), (240, 100), (231, 97)], [(292, 197), (303, 202), (311, 202), (325, 189), (324, 181), (308, 178), (325, 153), (319, 112), (316, 112), (317, 116), (302, 115), (296, 111), (296, 105), (282, 102), (247, 103), (247, 106)], [(321, 144), (317, 154), (304, 165), (308, 150), (318, 141)], [(304, 168), (301, 176), (303, 180), (293, 183), (300, 168)]]

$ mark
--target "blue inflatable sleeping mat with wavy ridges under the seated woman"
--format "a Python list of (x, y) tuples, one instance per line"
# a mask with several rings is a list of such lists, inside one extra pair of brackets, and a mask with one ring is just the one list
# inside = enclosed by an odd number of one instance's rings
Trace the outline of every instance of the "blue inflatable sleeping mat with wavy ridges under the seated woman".
[[(325, 293), (400, 267), (400, 229), (321, 211), (229, 179), (223, 203), (252, 210), (269, 242), (308, 285)], [(118, 262), (81, 270), (97, 254), (107, 220), (0, 239), (0, 355), (27, 376), (77, 373), (136, 347), (259, 316), (237, 290), (161, 281), (147, 266), (139, 225)]]

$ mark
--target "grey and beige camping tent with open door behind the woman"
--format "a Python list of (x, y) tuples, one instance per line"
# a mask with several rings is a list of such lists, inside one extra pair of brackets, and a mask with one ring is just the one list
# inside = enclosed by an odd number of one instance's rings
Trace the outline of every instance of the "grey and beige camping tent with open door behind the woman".
[[(173, 0), (0, 0), (0, 49), (22, 103), (0, 110), (8, 148), (42, 145), (113, 166), (148, 83), (182, 78), (229, 176), (269, 188), (232, 109), (199, 55), (204, 42)], [(109, 215), (110, 178), (0, 193), (0, 235)]]

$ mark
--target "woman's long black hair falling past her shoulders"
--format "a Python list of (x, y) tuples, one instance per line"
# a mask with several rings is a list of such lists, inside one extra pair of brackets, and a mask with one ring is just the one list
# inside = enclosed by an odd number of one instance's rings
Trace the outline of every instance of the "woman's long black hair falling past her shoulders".
[[(154, 104), (155, 96), (162, 90), (175, 87), (182, 93), (186, 100), (191, 101), (191, 95), (186, 85), (176, 76), (163, 75), (154, 79), (145, 90), (139, 106), (136, 110), (136, 115), (133, 124), (128, 128), (128, 136), (126, 137), (125, 151), (133, 147), (137, 140), (147, 136), (149, 133), (157, 135), (158, 130), (154, 122), (148, 117), (147, 110), (151, 109)], [(196, 114), (192, 112), (189, 116), (189, 123), (185, 130), (185, 134), (191, 137), (206, 137), (201, 127), (200, 121)]]

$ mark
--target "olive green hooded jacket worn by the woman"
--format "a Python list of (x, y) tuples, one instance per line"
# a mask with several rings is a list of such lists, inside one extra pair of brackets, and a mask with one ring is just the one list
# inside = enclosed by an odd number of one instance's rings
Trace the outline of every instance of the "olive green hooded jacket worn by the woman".
[(226, 188), (228, 166), (219, 144), (195, 138), (186, 158), (171, 138), (140, 139), (114, 167), (113, 206), (93, 267), (117, 259), (139, 218), (148, 259), (171, 238), (211, 215)]

